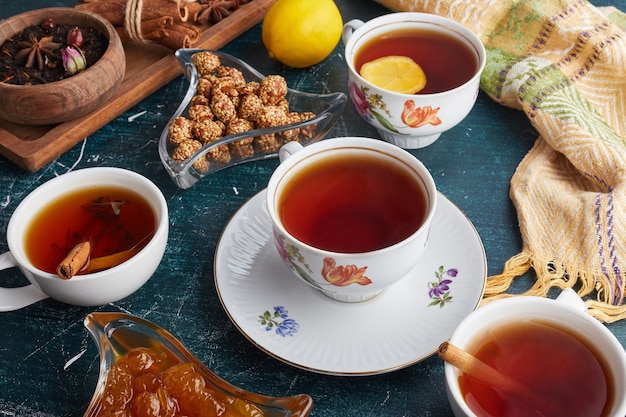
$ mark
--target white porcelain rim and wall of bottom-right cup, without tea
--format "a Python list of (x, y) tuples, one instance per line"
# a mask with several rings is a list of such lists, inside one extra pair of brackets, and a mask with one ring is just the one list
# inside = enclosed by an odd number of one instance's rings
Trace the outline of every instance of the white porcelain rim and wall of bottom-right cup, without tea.
[[(555, 299), (519, 296), (493, 301), (467, 316), (450, 338), (450, 343), (467, 350), (471, 343), (490, 328), (519, 320), (538, 319), (555, 323), (578, 335), (602, 354), (612, 373), (614, 401), (608, 416), (626, 415), (626, 352), (617, 338), (598, 320), (586, 313), (587, 306), (570, 288)], [(476, 417), (463, 399), (458, 383), (460, 371), (446, 363), (445, 379), (448, 400), (456, 417)], [(563, 387), (565, 390), (567, 387)]]

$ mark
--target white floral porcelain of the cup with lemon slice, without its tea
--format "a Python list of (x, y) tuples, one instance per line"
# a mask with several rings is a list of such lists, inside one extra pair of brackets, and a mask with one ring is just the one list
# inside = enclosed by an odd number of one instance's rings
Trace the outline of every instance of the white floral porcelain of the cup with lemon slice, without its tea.
[[(383, 34), (407, 29), (445, 33), (460, 40), (475, 55), (477, 68), (474, 75), (459, 87), (432, 94), (396, 93), (361, 77), (354, 62), (360, 48)], [(416, 12), (391, 13), (365, 23), (355, 19), (344, 25), (342, 39), (350, 98), (361, 117), (390, 143), (406, 149), (428, 146), (442, 132), (460, 123), (476, 102), (480, 75), (487, 59), (485, 47), (478, 36), (454, 20)]]

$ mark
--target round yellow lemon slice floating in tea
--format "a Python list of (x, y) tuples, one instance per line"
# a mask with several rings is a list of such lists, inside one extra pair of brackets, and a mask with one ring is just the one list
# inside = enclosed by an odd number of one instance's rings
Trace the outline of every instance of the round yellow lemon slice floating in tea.
[(395, 91), (415, 94), (426, 86), (426, 74), (408, 56), (391, 55), (363, 64), (361, 76), (372, 84)]

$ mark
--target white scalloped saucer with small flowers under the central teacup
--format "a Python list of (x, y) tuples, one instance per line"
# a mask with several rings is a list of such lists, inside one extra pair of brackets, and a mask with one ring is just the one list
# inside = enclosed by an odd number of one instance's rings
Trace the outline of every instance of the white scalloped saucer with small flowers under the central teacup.
[[(235, 213), (215, 253), (215, 286), (226, 313), (258, 348), (290, 365), (332, 375), (372, 375), (436, 352), (474, 311), (487, 278), (476, 229), (445, 196), (423, 261), (363, 303), (342, 303), (297, 279), (282, 263), (265, 208), (265, 191)], [(441, 269), (440, 269), (441, 268)], [(445, 271), (455, 269), (447, 274)], [(447, 302), (429, 283), (450, 279)], [(433, 305), (431, 305), (433, 304)]]

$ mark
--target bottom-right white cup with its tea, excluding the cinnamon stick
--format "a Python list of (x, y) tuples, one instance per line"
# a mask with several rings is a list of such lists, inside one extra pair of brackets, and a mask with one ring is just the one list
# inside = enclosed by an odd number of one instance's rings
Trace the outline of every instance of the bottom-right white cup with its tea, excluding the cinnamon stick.
[[(626, 352), (586, 310), (583, 300), (568, 288), (556, 300), (506, 298), (467, 316), (450, 344), (488, 363), (490, 369), (500, 368), (500, 373), (494, 377), (482, 372), (488, 378), (475, 376), (475, 382), (468, 382), (446, 362), (447, 395), (454, 415), (505, 415), (502, 404), (517, 412), (513, 415), (626, 415)], [(513, 403), (511, 397), (519, 402)], [(530, 404), (536, 408), (522, 410)]]

